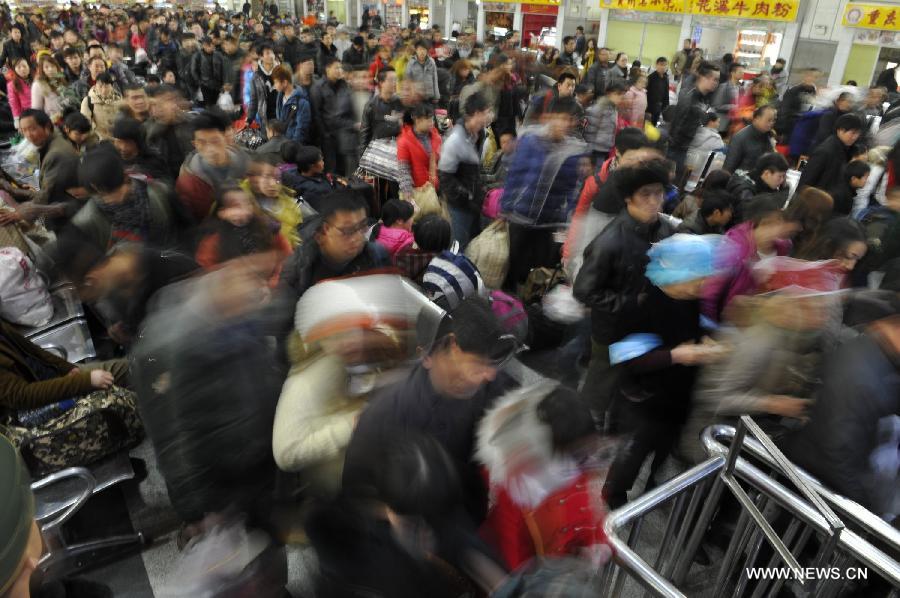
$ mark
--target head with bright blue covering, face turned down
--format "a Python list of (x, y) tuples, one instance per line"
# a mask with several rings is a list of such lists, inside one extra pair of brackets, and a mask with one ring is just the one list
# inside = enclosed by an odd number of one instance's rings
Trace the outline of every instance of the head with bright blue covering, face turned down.
[(716, 274), (722, 238), (679, 233), (654, 243), (647, 252), (647, 279), (673, 299), (700, 297), (703, 283)]

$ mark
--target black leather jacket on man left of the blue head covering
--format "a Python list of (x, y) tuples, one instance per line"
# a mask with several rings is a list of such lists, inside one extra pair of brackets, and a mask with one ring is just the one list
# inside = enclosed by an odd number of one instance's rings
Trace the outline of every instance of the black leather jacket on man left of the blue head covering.
[(608, 345), (619, 338), (619, 331), (627, 329), (649, 284), (644, 269), (650, 244), (674, 232), (667, 221), (641, 224), (622, 210), (584, 250), (584, 265), (573, 292), (591, 308), (595, 341)]

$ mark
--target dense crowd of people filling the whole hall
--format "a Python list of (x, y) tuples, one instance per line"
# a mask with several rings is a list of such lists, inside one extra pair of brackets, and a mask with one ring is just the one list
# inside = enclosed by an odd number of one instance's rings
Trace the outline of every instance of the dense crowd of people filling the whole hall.
[(133, 446), (35, 448), (115, 389), (179, 547), (302, 528), (317, 596), (579, 595), (607, 510), (744, 414), (894, 520), (896, 69), (827, 89), (690, 40), (641, 65), (581, 27), (544, 51), (384, 25), (0, 10), (0, 129), (36, 171), (3, 173), (0, 226), (107, 360), (2, 312), (0, 596), (106, 595), (29, 581), (28, 470)]

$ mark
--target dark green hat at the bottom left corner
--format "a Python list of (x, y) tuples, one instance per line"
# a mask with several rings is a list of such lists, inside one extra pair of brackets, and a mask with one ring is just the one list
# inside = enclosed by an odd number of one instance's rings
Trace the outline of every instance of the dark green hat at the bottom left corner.
[(34, 522), (31, 478), (16, 447), (0, 436), (0, 595), (9, 590)]

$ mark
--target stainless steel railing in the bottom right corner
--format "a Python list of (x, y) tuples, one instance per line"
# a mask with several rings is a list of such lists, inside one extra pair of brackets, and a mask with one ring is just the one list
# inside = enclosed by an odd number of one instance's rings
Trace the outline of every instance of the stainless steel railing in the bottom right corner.
[[(615, 565), (604, 571), (601, 595), (623, 595), (629, 580), (650, 595), (665, 598), (685, 596), (685, 583), (695, 583), (698, 577), (707, 585), (714, 578), (713, 595), (728, 591), (733, 596), (753, 598), (775, 596), (785, 583), (796, 584), (806, 595), (828, 598), (847, 584), (858, 583), (840, 575), (809, 579), (800, 574), (806, 570), (803, 562), (809, 563), (808, 567), (835, 571), (853, 567), (865, 570), (866, 575), (871, 571), (883, 580), (866, 582), (870, 583), (867, 589), (879, 592), (874, 595), (900, 595), (900, 564), (896, 560), (900, 555), (886, 553), (855, 530), (847, 529), (828, 504), (835, 502), (833, 497), (823, 495), (821, 485), (788, 461), (755, 422), (742, 418), (728, 449), (713, 440), (716, 432), (719, 437), (723, 434), (721, 430), (710, 432), (709, 440), (715, 443), (709, 445), (710, 459), (608, 515), (605, 530), (615, 553)], [(747, 438), (748, 432), (755, 440)], [(796, 489), (786, 488), (770, 473), (751, 464), (742, 456), (747, 450), (763, 458)], [(740, 505), (737, 525), (717, 566), (711, 567), (712, 571), (695, 571), (692, 577), (692, 564), (721, 507), (725, 488)], [(641, 546), (645, 518), (666, 508), (662, 541)], [(856, 516), (854, 523), (866, 519)], [(875, 531), (880, 528), (870, 527)], [(623, 539), (626, 528), (627, 539)], [(810, 560), (812, 552), (815, 554)], [(747, 572), (751, 567), (787, 568), (796, 575), (791, 579), (750, 580)]]

